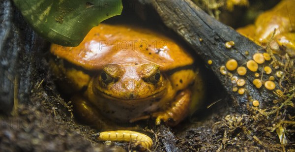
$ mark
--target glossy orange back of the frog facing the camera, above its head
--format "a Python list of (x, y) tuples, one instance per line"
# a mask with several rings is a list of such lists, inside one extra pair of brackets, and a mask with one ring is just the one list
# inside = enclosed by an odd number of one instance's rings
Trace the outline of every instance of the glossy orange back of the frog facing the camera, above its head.
[(154, 63), (160, 71), (167, 71), (193, 63), (168, 37), (147, 29), (106, 24), (92, 28), (79, 46), (53, 44), (51, 52), (89, 70), (101, 70), (108, 63)]

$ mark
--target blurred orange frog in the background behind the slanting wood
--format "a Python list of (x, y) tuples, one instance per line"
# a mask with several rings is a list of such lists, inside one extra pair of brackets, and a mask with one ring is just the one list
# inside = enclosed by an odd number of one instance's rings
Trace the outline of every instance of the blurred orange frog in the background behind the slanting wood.
[[(286, 52), (291, 57), (295, 57), (294, 7), (294, 0), (282, 0), (271, 10), (259, 15), (254, 25), (248, 25), (237, 31), (259, 45), (265, 46), (268, 41), (272, 40), (270, 46), (274, 53), (284, 54)], [(275, 33), (274, 29), (276, 29)]]

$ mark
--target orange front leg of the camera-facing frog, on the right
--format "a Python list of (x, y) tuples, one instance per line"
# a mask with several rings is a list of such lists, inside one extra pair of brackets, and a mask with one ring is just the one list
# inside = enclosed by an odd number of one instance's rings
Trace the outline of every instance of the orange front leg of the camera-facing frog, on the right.
[(188, 89), (180, 91), (176, 95), (175, 101), (171, 103), (168, 109), (163, 112), (153, 113), (152, 117), (156, 118), (157, 125), (160, 124), (162, 120), (170, 126), (175, 126), (187, 116), (190, 101), (191, 91)]

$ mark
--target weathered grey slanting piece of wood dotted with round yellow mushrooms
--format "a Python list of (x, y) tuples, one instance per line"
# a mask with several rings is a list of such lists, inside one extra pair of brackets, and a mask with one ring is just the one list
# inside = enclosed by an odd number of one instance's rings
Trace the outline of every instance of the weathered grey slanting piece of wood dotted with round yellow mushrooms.
[[(245, 63), (253, 60), (253, 55), (258, 50), (263, 50), (260, 46), (210, 17), (191, 0), (145, 0), (145, 2), (151, 4), (164, 24), (183, 38), (206, 63), (208, 60), (212, 61), (212, 64), (207, 66), (214, 71), (226, 91), (236, 101), (236, 108), (239, 112), (247, 112), (246, 105), (252, 103), (250, 102), (251, 97), (260, 101), (260, 108), (264, 108), (267, 103), (276, 98), (272, 91), (268, 91), (264, 87), (257, 89), (253, 85), (252, 82), (256, 79), (255, 72), (247, 70), (247, 74), (244, 76), (238, 76), (236, 71), (231, 72), (246, 81), (244, 87), (246, 91), (242, 95), (232, 91), (233, 84), (230, 76), (220, 73), (220, 67), (225, 65), (229, 59), (235, 59), (239, 66), (246, 67)], [(231, 49), (226, 48), (225, 43), (228, 41), (234, 41), (235, 46)], [(245, 55), (246, 51), (249, 52), (249, 55)], [(269, 63), (266, 62), (265, 66)], [(274, 71), (274, 69), (272, 70)], [(259, 65), (257, 72), (261, 78), (263, 64)], [(264, 74), (263, 78), (267, 79), (268, 76)], [(276, 89), (280, 89), (277, 83), (276, 86)]]

